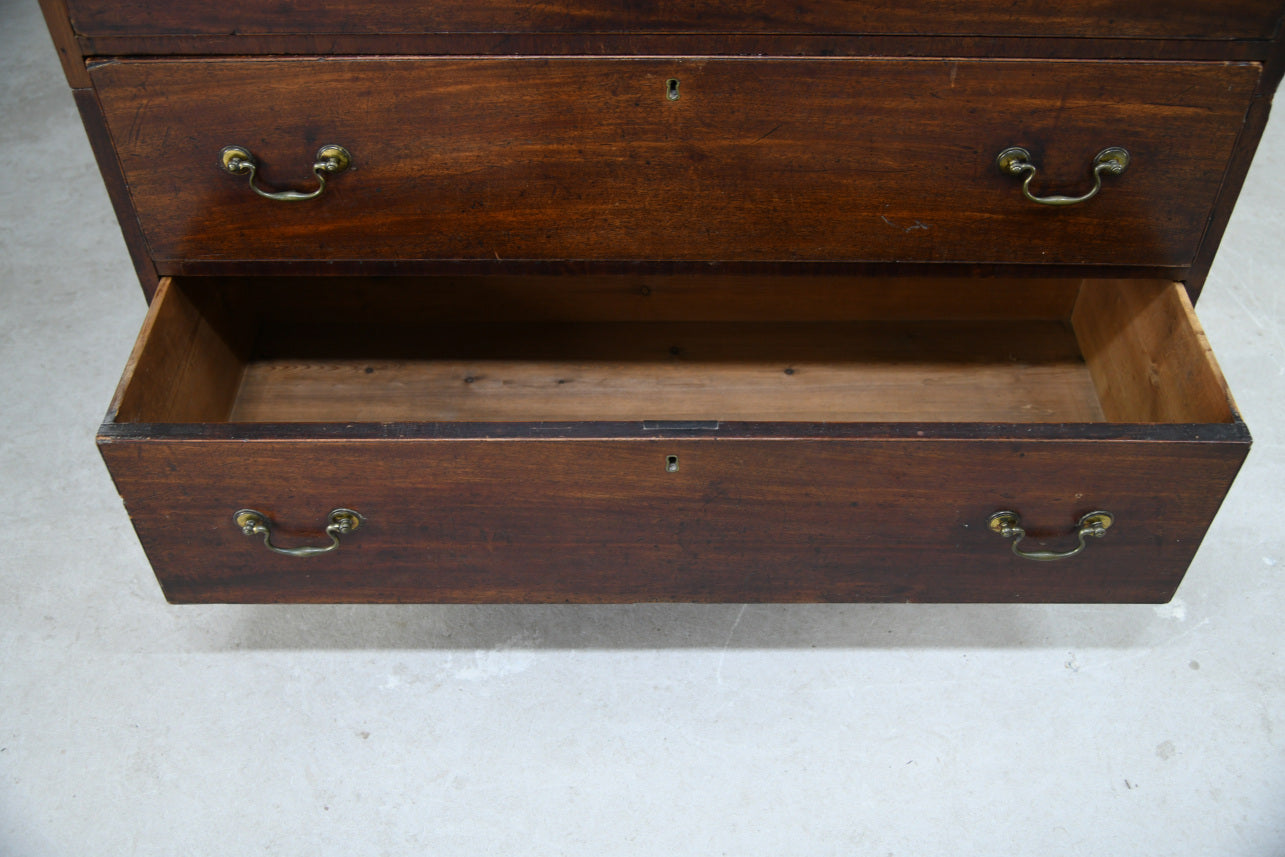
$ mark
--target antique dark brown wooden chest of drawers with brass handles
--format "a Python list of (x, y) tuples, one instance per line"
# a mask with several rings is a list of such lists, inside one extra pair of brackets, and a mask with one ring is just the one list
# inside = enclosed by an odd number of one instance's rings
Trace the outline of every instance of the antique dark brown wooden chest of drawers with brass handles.
[(46, 0), (172, 601), (1163, 601), (1285, 6)]

